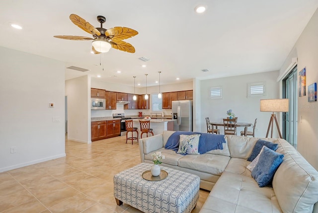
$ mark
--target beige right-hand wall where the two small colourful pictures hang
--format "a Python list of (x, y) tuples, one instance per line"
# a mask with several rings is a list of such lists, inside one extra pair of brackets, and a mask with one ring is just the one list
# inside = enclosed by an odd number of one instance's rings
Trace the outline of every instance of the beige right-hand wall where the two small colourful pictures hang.
[(318, 82), (318, 10), (307, 24), (280, 73), (292, 58), (298, 58), (298, 72), (306, 67), (306, 96), (298, 97), (298, 151), (318, 169), (318, 103), (308, 102), (308, 85)]

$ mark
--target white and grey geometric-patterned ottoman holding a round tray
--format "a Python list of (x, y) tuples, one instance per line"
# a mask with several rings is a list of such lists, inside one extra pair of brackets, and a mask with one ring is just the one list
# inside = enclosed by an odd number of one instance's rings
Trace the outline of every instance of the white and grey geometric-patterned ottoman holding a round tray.
[(168, 176), (160, 181), (142, 177), (153, 164), (141, 163), (114, 176), (114, 197), (144, 213), (190, 213), (199, 199), (200, 178), (160, 166)]

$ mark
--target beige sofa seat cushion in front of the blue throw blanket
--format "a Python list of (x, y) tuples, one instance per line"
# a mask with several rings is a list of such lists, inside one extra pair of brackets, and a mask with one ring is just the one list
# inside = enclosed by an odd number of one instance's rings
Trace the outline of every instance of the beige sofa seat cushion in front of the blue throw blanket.
[(221, 175), (228, 165), (230, 157), (216, 154), (188, 154), (178, 161), (178, 166), (206, 172), (214, 175)]

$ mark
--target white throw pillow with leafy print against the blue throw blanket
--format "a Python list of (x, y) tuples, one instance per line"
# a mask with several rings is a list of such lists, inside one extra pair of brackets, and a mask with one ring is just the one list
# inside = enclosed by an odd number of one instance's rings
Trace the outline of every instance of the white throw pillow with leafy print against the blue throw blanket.
[(199, 153), (199, 140), (200, 134), (196, 135), (180, 135), (179, 149), (177, 153), (181, 154), (200, 154)]

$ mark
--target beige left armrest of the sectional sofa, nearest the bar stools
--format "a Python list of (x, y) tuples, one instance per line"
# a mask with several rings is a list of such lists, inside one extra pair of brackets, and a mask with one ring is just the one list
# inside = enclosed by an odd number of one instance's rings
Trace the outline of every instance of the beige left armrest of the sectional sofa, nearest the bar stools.
[(163, 147), (162, 134), (139, 140), (141, 162), (145, 162), (145, 154), (156, 151)]

